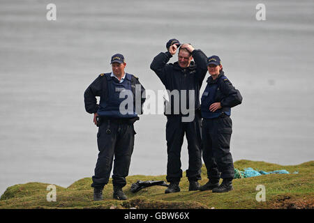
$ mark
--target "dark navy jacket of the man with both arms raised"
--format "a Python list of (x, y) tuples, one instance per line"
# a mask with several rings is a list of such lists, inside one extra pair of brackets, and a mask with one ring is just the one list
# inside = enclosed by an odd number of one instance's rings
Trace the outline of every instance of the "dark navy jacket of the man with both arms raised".
[[(172, 57), (170, 52), (161, 52), (155, 56), (151, 62), (151, 70), (156, 72), (165, 88), (169, 91), (179, 91), (179, 114), (181, 114), (181, 94), (180, 90), (195, 90), (195, 109), (200, 109), (200, 88), (207, 73), (207, 56), (200, 50), (192, 52), (194, 61), (190, 62), (188, 68), (181, 68), (178, 62), (168, 63)], [(186, 92), (186, 108), (189, 109), (188, 91)], [(174, 114), (174, 100), (171, 100), (171, 114)]]

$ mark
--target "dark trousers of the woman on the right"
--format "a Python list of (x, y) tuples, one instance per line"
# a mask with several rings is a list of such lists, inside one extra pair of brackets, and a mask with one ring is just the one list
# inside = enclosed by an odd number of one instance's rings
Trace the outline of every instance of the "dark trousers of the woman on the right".
[(234, 178), (234, 167), (230, 153), (232, 120), (229, 116), (203, 118), (202, 157), (211, 179)]

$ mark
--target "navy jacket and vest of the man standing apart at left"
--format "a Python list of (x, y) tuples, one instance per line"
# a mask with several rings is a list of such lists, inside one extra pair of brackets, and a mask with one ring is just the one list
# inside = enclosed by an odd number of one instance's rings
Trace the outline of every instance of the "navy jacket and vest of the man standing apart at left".
[[(84, 92), (84, 103), (87, 112), (93, 114), (96, 113), (98, 116), (105, 116), (106, 118), (135, 118), (137, 112), (135, 112), (135, 85), (140, 84), (138, 79), (126, 73), (126, 77), (122, 83), (119, 83), (115, 77), (110, 77), (111, 73), (100, 74), (91, 85)], [(145, 91), (142, 84), (140, 85), (139, 95)], [(133, 94), (133, 111), (129, 111), (127, 114), (121, 114), (119, 107), (122, 101), (126, 98), (119, 98), (120, 91), (130, 90)], [(96, 96), (100, 97), (99, 105), (97, 105)], [(144, 96), (144, 94), (143, 94)], [(126, 95), (128, 97), (128, 95)], [(140, 114), (142, 113), (142, 104), (145, 98), (140, 98), (141, 108)]]

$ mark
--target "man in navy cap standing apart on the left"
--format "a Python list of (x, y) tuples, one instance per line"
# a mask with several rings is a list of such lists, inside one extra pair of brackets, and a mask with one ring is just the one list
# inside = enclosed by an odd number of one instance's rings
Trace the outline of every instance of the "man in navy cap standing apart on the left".
[[(85, 109), (94, 114), (94, 123), (98, 126), (99, 153), (91, 184), (91, 187), (94, 187), (94, 201), (103, 200), (103, 187), (108, 183), (113, 158), (113, 197), (127, 199), (122, 187), (126, 185), (130, 157), (133, 153), (135, 135), (133, 123), (139, 119), (137, 115), (142, 114), (142, 105), (145, 101), (144, 87), (138, 78), (124, 71), (126, 67), (124, 56), (114, 54), (111, 66), (112, 72), (100, 74), (84, 92)], [(135, 95), (138, 94), (140, 102), (135, 100), (138, 97)], [(99, 105), (96, 96), (100, 97)], [(125, 100), (130, 103), (120, 107)]]

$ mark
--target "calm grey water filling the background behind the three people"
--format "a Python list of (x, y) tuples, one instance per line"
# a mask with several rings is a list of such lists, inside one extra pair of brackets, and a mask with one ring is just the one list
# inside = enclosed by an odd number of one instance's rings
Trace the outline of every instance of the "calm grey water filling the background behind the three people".
[[(46, 20), (50, 2), (57, 21)], [(164, 89), (149, 65), (170, 38), (219, 55), (241, 91), (243, 104), (232, 109), (234, 161), (313, 160), (314, 2), (263, 1), (266, 21), (255, 19), (257, 3), (1, 0), (0, 194), (17, 183), (68, 187), (92, 176), (97, 129), (84, 90), (111, 70), (117, 52), (146, 89)], [(165, 121), (147, 115), (135, 123), (130, 175), (165, 174)], [(185, 170), (186, 141), (181, 156)]]

